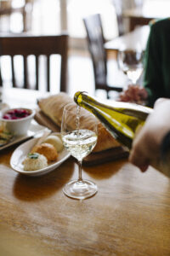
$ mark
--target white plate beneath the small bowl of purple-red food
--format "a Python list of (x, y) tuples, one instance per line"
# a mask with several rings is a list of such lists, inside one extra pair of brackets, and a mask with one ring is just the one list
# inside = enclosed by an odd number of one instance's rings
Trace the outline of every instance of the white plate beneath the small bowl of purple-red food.
[(33, 136), (36, 136), (37, 134), (41, 133), (47, 129), (45, 126), (42, 125), (38, 125), (37, 122), (35, 120), (31, 120), (31, 125), (29, 127), (29, 130), (27, 131), (27, 133), (25, 135), (22, 136), (16, 136), (14, 137), (9, 143), (5, 144), (3, 147), (0, 147), (0, 151), (8, 148), (10, 146), (13, 146), (16, 143), (20, 143), (28, 138), (31, 138)]

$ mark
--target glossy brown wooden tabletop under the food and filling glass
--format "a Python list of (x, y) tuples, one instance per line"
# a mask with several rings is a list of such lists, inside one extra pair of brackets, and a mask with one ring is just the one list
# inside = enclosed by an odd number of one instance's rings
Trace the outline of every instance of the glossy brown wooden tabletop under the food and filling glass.
[[(36, 92), (20, 90), (21, 98), (35, 106)], [(97, 183), (99, 192), (75, 201), (62, 192), (77, 177), (74, 160), (48, 175), (25, 177), (9, 166), (14, 148), (0, 154), (2, 256), (170, 255), (167, 177), (151, 167), (141, 173), (127, 160), (83, 167), (83, 177)]]

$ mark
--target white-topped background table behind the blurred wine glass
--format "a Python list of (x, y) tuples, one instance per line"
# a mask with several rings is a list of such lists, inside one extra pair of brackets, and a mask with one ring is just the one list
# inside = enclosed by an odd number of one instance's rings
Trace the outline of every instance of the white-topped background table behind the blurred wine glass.
[(130, 49), (135, 49), (138, 45), (140, 45), (142, 49), (145, 49), (149, 32), (150, 26), (140, 26), (122, 37), (114, 38), (111, 41), (108, 41), (105, 43), (105, 49), (107, 51), (117, 51), (120, 49), (120, 47), (122, 47), (122, 45), (126, 45), (126, 47)]

